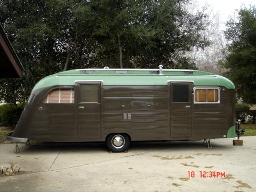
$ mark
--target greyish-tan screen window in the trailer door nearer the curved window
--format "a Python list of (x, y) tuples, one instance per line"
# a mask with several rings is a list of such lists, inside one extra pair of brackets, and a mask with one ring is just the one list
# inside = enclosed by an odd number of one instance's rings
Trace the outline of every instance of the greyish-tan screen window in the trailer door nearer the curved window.
[(99, 101), (99, 85), (83, 85), (80, 86), (80, 102), (98, 102)]

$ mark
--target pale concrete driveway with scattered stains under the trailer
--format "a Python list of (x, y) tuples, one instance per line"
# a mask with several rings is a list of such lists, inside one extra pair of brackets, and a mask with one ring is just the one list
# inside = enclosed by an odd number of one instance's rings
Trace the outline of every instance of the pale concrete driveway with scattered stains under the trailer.
[[(133, 142), (128, 153), (104, 143), (0, 144), (0, 166), (26, 174), (0, 178), (0, 191), (256, 191), (256, 137)], [(215, 175), (215, 176), (214, 176)]]

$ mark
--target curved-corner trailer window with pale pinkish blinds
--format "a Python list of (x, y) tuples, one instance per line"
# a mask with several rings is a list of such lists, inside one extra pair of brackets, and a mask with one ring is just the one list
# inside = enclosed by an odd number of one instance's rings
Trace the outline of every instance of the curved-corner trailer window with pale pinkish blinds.
[(74, 103), (74, 89), (54, 89), (44, 98), (44, 103)]

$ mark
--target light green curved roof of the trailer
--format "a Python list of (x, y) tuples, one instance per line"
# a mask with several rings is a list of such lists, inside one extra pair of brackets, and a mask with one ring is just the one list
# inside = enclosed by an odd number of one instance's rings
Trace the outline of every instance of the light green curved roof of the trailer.
[(168, 82), (194, 82), (195, 86), (225, 86), (235, 89), (227, 78), (186, 69), (76, 69), (47, 76), (33, 90), (54, 85), (75, 85), (77, 81), (101, 81), (103, 85), (167, 85)]

